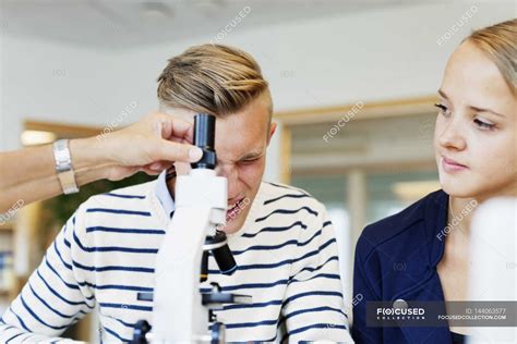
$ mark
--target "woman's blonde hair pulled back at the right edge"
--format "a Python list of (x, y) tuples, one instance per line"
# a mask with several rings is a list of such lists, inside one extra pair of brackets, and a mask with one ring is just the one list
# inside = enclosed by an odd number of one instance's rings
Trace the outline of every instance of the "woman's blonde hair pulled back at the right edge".
[(476, 45), (496, 65), (513, 94), (516, 94), (517, 20), (474, 30), (464, 41)]

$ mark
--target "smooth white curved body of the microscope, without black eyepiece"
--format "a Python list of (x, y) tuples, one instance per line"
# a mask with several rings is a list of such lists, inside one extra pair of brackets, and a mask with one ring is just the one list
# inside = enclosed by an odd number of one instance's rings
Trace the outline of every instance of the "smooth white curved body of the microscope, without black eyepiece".
[(158, 251), (153, 305), (153, 343), (204, 341), (208, 314), (200, 273), (206, 236), (226, 223), (227, 181), (214, 170), (178, 176), (176, 210)]

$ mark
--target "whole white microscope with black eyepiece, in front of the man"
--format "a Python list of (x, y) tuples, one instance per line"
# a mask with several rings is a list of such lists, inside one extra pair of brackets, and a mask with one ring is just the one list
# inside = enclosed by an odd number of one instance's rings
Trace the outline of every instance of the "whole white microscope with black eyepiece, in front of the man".
[(194, 118), (194, 145), (203, 150), (188, 175), (176, 181), (176, 210), (157, 254), (154, 293), (139, 293), (139, 300), (153, 302), (153, 327), (141, 320), (133, 333), (134, 344), (226, 343), (225, 324), (214, 312), (225, 304), (250, 304), (251, 296), (221, 293), (212, 283), (200, 293), (208, 278), (212, 255), (223, 274), (232, 274), (237, 263), (226, 234), (227, 180), (215, 167), (215, 116)]

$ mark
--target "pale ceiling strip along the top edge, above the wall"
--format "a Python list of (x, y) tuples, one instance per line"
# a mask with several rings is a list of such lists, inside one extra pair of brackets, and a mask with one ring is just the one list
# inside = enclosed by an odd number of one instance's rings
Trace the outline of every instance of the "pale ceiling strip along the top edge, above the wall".
[[(420, 0), (419, 0), (420, 1)], [(408, 0), (0, 0), (2, 35), (106, 49), (216, 36), (250, 7), (239, 29), (414, 3)]]

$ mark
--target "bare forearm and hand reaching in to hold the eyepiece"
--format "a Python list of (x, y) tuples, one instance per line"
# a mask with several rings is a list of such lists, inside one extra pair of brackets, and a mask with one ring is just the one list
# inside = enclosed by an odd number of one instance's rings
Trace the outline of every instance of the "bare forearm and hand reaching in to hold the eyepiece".
[[(195, 162), (203, 151), (190, 144), (192, 124), (152, 112), (123, 130), (70, 140), (77, 186), (109, 179), (119, 181), (139, 171), (156, 175), (175, 161)], [(180, 144), (182, 143), (182, 144)], [(0, 214), (62, 193), (52, 146), (0, 152)], [(1, 220), (1, 219), (0, 219)]]

